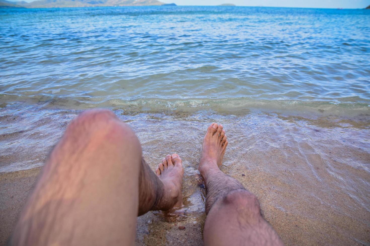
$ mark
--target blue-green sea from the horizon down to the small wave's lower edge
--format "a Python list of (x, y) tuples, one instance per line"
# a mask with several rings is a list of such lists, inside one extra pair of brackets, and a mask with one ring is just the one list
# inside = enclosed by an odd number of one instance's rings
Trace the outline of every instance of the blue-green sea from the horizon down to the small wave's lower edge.
[(370, 11), (0, 10), (0, 102), (369, 113)]

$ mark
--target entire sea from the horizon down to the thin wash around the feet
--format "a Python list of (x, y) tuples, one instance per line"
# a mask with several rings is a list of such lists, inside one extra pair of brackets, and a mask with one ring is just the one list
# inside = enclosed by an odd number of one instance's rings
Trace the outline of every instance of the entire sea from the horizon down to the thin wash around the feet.
[(336, 217), (369, 229), (370, 10), (11, 8), (0, 22), (0, 172), (42, 166), (79, 112), (107, 108), (151, 167), (179, 153), (196, 211), (202, 138), (218, 122), (225, 173), (254, 175), (248, 188), (280, 212), (331, 211), (343, 244), (370, 242)]

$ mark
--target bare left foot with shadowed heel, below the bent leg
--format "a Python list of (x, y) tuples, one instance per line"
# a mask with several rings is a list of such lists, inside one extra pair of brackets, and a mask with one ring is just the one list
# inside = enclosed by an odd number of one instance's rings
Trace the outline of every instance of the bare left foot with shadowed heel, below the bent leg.
[(158, 203), (158, 210), (169, 210), (182, 206), (181, 184), (184, 167), (178, 154), (167, 155), (155, 170), (162, 181), (164, 192)]

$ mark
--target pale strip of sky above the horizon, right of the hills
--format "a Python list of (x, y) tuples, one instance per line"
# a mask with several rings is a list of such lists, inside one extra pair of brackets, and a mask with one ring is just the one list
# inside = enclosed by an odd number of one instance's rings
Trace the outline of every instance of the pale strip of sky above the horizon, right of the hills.
[(177, 5), (219, 5), (233, 3), (237, 6), (303, 7), (303, 8), (365, 8), (370, 0), (160, 0)]

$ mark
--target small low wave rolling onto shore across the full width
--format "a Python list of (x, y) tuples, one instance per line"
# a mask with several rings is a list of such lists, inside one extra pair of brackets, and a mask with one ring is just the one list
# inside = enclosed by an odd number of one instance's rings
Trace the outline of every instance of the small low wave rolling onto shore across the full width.
[(292, 115), (336, 115), (357, 116), (370, 115), (370, 105), (367, 103), (332, 101), (302, 101), (302, 100), (265, 100), (252, 97), (237, 98), (155, 98), (142, 97), (131, 100), (121, 98), (105, 99), (99, 97), (63, 97), (54, 96), (13, 96), (0, 95), (0, 103), (10, 102), (39, 103), (46, 107), (87, 109), (87, 108), (121, 108), (133, 112), (159, 111), (214, 111), (222, 114), (248, 114), (251, 110), (263, 112), (282, 112)]

